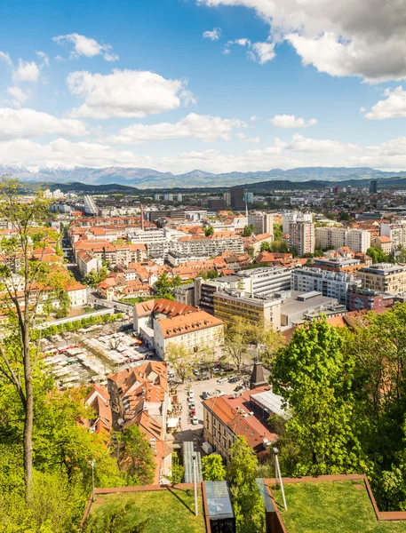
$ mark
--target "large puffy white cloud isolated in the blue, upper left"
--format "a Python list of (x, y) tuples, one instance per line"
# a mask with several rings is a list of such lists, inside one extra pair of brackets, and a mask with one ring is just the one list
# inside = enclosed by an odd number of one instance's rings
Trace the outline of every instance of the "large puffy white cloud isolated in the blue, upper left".
[(68, 76), (68, 89), (84, 98), (70, 113), (75, 117), (142, 117), (176, 109), (183, 99), (195, 101), (185, 80), (169, 80), (153, 72), (114, 69), (111, 74), (77, 71)]

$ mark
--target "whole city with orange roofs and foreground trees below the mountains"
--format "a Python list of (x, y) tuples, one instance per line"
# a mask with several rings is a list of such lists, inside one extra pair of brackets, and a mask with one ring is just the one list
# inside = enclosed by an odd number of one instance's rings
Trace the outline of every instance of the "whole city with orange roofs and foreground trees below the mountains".
[(4, 176), (2, 531), (406, 531), (406, 193), (270, 187)]

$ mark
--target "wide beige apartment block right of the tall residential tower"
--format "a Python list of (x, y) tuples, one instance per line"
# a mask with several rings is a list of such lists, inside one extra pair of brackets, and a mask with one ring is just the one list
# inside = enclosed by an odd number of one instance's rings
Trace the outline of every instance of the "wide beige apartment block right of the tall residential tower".
[(347, 246), (353, 251), (365, 253), (370, 248), (370, 232), (364, 229), (316, 227), (314, 237), (315, 248), (322, 248), (322, 250)]

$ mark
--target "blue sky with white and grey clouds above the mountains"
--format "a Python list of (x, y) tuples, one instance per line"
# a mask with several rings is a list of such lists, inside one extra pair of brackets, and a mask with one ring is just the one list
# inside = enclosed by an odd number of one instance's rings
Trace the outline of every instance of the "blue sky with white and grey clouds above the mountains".
[(0, 0), (0, 163), (406, 169), (391, 6)]

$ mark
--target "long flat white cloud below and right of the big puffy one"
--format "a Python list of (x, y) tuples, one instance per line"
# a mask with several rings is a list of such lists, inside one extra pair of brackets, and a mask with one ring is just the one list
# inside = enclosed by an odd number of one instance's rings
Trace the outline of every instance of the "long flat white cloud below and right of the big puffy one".
[(139, 144), (145, 140), (184, 139), (193, 137), (205, 142), (231, 139), (231, 132), (245, 124), (235, 118), (190, 113), (178, 123), (131, 124), (107, 139), (115, 144)]

